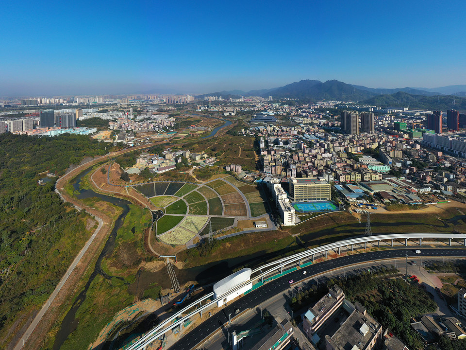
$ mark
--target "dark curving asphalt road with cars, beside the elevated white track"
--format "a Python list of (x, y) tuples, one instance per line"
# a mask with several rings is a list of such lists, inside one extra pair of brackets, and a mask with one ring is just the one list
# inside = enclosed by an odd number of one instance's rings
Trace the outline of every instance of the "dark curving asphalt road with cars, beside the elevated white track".
[[(419, 249), (419, 248), (418, 248)], [(228, 322), (228, 314), (234, 316), (234, 309), (238, 308), (241, 312), (245, 309), (255, 308), (257, 305), (266, 301), (279, 293), (283, 293), (290, 288), (289, 280), (294, 280), (294, 283), (309, 278), (309, 276), (324, 273), (335, 268), (340, 268), (346, 265), (370, 262), (374, 260), (385, 260), (392, 258), (404, 258), (408, 254), (408, 260), (417, 260), (418, 257), (466, 257), (466, 249), (420, 249), (421, 254), (416, 254), (413, 248), (410, 249), (388, 249), (379, 250), (369, 253), (348, 255), (345, 257), (326, 260), (310, 265), (305, 268), (306, 275), (302, 274), (303, 269), (294, 271), (286, 276), (266, 283), (264, 286), (257, 288), (244, 297), (239, 298), (235, 302), (229, 304), (221, 311), (212, 315), (199, 326), (184, 335), (179, 341), (173, 344), (169, 350), (190, 350), (199, 344), (204, 338), (215, 332), (219, 327), (223, 327)]]

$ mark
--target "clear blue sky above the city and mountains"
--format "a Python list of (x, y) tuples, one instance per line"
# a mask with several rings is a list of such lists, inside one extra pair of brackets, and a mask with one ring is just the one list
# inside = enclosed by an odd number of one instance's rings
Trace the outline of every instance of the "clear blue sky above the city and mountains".
[(4, 1), (0, 96), (466, 84), (466, 1)]

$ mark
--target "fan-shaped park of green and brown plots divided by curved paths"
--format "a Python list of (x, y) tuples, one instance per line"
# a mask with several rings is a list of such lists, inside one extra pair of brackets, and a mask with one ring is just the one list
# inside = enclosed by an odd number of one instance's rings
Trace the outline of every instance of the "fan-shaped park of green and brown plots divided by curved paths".
[(238, 220), (259, 219), (268, 210), (261, 189), (231, 175), (203, 184), (164, 181), (133, 188), (164, 212), (153, 230), (156, 238), (167, 245), (193, 244), (210, 229), (216, 232), (232, 228)]

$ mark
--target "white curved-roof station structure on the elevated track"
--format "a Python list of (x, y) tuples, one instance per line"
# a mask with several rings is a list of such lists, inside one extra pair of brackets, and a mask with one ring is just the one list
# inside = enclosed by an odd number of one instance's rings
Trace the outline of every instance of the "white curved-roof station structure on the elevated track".
[[(246, 267), (225, 277), (223, 280), (216, 282), (216, 284), (214, 284), (214, 298), (223, 296), (223, 299), (217, 301), (217, 306), (222, 306), (233, 300), (235, 297), (249, 291), (252, 288), (252, 281), (250, 281), (251, 273), (252, 270), (249, 267)], [(235, 287), (248, 281), (250, 282), (246, 283), (241, 288), (233, 290)], [(229, 294), (228, 291), (232, 291), (232, 293)]]

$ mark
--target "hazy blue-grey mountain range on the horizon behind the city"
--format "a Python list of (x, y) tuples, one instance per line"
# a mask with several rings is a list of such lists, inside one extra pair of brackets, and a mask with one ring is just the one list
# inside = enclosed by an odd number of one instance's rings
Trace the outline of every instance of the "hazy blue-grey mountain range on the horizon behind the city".
[[(452, 94), (458, 96), (460, 99), (461, 97), (466, 97), (466, 85), (452, 85), (441, 88), (406, 87), (389, 89), (367, 88), (361, 85), (346, 84), (338, 80), (328, 80), (326, 82), (321, 82), (319, 80), (306, 79), (285, 85), (280, 88), (251, 90), (247, 92), (242, 90), (220, 91), (198, 95), (196, 97), (203, 98), (204, 96), (222, 96), (222, 98), (228, 99), (238, 98), (239, 96), (260, 96), (264, 98), (272, 96), (274, 99), (295, 98), (309, 102), (338, 100), (353, 102), (364, 101), (370, 103), (369, 101), (373, 101), (374, 105), (390, 105), (391, 101), (392, 106), (396, 106), (407, 102), (417, 105), (416, 101), (419, 103), (423, 101), (422, 104), (430, 105), (428, 100), (423, 99), (423, 97), (444, 96), (444, 94)], [(447, 101), (448, 99), (443, 100)], [(448, 101), (450, 100), (453, 102), (451, 97)], [(453, 102), (453, 105), (455, 104), (456, 102)]]

